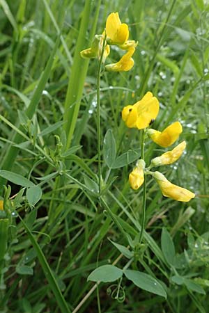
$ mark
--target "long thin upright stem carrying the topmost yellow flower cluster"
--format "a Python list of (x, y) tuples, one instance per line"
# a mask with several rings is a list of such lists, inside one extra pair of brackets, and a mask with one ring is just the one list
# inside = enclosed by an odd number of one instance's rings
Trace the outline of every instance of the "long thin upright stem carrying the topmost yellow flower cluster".
[(98, 176), (99, 176), (99, 194), (101, 193), (101, 133), (100, 133), (100, 80), (102, 70), (102, 58), (104, 54), (104, 47), (106, 44), (106, 34), (102, 44), (102, 53), (98, 63), (98, 74), (97, 74), (97, 135), (98, 135)]

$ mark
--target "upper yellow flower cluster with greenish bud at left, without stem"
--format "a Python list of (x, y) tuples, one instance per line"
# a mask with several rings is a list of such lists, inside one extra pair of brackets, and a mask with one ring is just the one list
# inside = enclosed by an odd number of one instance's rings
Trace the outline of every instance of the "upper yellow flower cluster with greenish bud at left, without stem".
[(105, 69), (109, 72), (129, 71), (134, 65), (132, 55), (134, 54), (137, 42), (128, 40), (129, 29), (127, 24), (121, 23), (118, 13), (111, 13), (107, 17), (106, 29), (102, 35), (95, 35), (93, 43), (90, 48), (80, 52), (82, 58), (101, 58), (102, 48), (103, 56), (102, 63), (105, 62), (110, 53), (110, 45), (116, 45), (122, 50), (127, 51), (117, 63), (108, 64)]

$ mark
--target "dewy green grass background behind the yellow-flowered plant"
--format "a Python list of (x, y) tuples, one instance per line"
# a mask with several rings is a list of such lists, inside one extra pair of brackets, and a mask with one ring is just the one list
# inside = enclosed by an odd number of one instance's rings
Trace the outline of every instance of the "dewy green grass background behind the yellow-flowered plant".
[[(108, 239), (124, 246), (127, 241), (95, 197), (98, 63), (79, 56), (116, 11), (139, 45), (130, 72), (102, 76), (102, 138), (111, 129), (118, 156), (139, 153), (139, 131), (125, 127), (121, 110), (151, 90), (160, 100), (154, 127), (179, 120), (180, 140), (187, 141), (187, 153), (162, 171), (196, 198), (163, 198), (148, 179), (148, 234), (132, 264), (167, 285), (167, 300), (124, 278), (125, 301), (119, 303), (107, 295), (109, 284), (94, 290), (86, 280), (97, 266), (127, 263)], [(8, 202), (13, 215), (1, 261), (1, 312), (208, 312), (208, 17), (203, 0), (0, 0), (0, 168), (38, 185), (31, 200), (24, 188), (30, 186), (8, 177), (10, 197), (18, 195)], [(113, 48), (107, 61), (120, 56)], [(146, 160), (160, 152), (147, 142)], [(132, 239), (140, 230), (142, 202), (142, 190), (132, 191), (127, 182), (133, 166), (109, 170), (102, 164), (104, 198)], [(3, 184), (5, 179), (2, 197)], [(175, 271), (156, 250), (162, 227), (173, 236), (180, 275), (206, 294), (171, 280)]]

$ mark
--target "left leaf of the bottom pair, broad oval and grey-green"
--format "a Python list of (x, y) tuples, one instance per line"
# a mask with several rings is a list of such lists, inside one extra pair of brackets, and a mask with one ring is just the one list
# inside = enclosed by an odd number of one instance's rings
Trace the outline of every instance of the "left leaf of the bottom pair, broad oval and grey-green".
[(88, 275), (87, 280), (92, 282), (114, 282), (121, 278), (122, 275), (123, 271), (120, 268), (114, 265), (102, 265)]

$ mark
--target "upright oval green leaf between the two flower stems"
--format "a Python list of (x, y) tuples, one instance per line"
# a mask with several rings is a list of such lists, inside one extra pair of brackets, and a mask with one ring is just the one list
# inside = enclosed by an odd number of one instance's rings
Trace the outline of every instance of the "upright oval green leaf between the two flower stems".
[(103, 154), (104, 162), (111, 168), (116, 159), (116, 141), (111, 129), (108, 129), (104, 136)]

